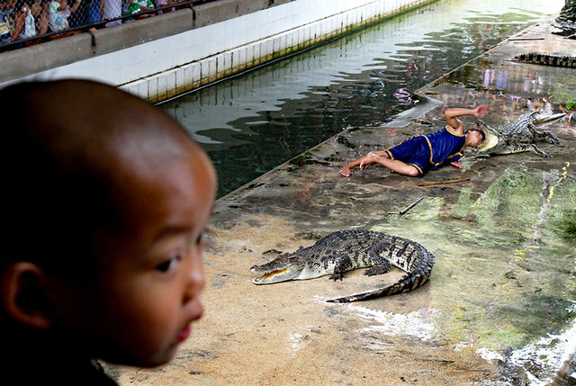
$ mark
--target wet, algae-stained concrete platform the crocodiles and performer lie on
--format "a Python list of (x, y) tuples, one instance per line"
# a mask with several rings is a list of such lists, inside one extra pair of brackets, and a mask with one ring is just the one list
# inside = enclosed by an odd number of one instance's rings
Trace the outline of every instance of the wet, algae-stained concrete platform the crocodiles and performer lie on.
[[(575, 98), (576, 69), (507, 60), (531, 51), (576, 56), (576, 42), (552, 30), (532, 26), (420, 89), (441, 103), (421, 103), (408, 120), (346, 130), (221, 198), (205, 258), (206, 312), (192, 337), (171, 364), (108, 372), (121, 385), (552, 382), (576, 351), (576, 117), (546, 127), (562, 140), (538, 144), (551, 158), (468, 153), (463, 170), (423, 178), (377, 166), (338, 175), (347, 160), (442, 128), (446, 107), (487, 103), (491, 126), (515, 121), (528, 101), (546, 108), (547, 98), (560, 111)], [(418, 186), (461, 178), (470, 181)], [(405, 215), (388, 214), (422, 196)], [(418, 241), (436, 256), (430, 281), (351, 304), (324, 300), (392, 283), (401, 271), (251, 282), (252, 265), (338, 229)]]

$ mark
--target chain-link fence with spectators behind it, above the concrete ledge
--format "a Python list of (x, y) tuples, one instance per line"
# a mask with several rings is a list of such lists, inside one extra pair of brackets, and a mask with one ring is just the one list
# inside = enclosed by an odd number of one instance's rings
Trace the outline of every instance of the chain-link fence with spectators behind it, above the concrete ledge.
[(216, 0), (0, 0), (0, 52)]

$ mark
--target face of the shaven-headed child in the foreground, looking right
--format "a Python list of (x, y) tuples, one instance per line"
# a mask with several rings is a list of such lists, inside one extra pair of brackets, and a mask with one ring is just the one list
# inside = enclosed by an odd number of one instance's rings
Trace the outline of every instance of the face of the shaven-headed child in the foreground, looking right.
[(98, 357), (155, 366), (174, 357), (202, 317), (202, 254), (216, 177), (198, 150), (157, 170), (134, 164), (119, 172), (125, 225), (103, 236), (94, 286), (81, 294), (63, 287), (60, 309), (67, 328), (85, 336)]

